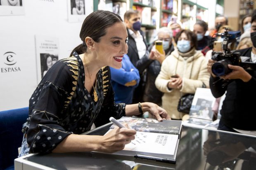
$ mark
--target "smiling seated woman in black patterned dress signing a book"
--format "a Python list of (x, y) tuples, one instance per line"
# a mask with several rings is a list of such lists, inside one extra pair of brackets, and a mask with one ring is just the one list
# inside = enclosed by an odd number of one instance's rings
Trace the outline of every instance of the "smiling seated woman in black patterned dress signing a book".
[(114, 102), (110, 69), (121, 68), (127, 53), (127, 31), (119, 15), (92, 12), (83, 22), (78, 45), (69, 58), (47, 71), (29, 100), (21, 154), (102, 151), (114, 152), (135, 138), (136, 131), (115, 128), (104, 136), (79, 135), (101, 126), (109, 117), (136, 116), (148, 111), (157, 120), (170, 119), (154, 103)]

